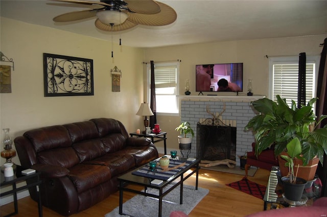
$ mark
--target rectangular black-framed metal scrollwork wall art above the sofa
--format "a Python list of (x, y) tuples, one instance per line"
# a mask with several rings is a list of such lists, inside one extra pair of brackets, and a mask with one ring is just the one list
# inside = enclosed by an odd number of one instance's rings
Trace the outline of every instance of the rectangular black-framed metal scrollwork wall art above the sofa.
[(44, 97), (94, 95), (93, 60), (43, 53)]

